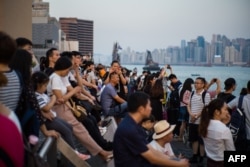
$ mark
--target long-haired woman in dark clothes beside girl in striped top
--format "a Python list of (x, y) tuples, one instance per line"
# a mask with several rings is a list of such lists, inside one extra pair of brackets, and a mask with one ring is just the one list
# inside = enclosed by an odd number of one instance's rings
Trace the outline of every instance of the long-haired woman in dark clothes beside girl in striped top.
[[(14, 55), (10, 67), (20, 73), (22, 93), (16, 109), (16, 114), (20, 120), (24, 135), (28, 138), (30, 135), (39, 137), (39, 129), (45, 136), (58, 137), (55, 131), (47, 131), (42, 119), (42, 113), (39, 108), (35, 91), (31, 84), (31, 66), (32, 55), (23, 49), (18, 49)], [(43, 113), (43, 116), (52, 119), (49, 114)]]

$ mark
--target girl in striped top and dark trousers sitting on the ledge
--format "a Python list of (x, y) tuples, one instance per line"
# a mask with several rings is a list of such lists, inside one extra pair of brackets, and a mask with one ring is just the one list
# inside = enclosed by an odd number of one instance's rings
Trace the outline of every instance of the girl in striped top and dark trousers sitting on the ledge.
[(57, 103), (58, 101), (55, 95), (52, 95), (49, 98), (49, 96), (45, 94), (49, 82), (49, 77), (47, 76), (47, 74), (40, 71), (35, 72), (32, 75), (31, 80), (33, 82), (36, 98), (39, 103), (40, 109), (43, 115), (47, 115), (47, 118), (50, 118), (50, 119), (44, 118), (46, 128), (49, 130), (53, 129), (59, 132), (62, 138), (75, 150), (76, 154), (82, 160), (89, 159), (90, 155), (81, 154), (76, 150), (73, 142), (72, 127), (64, 120), (56, 117), (56, 113), (51, 110), (54, 104)]

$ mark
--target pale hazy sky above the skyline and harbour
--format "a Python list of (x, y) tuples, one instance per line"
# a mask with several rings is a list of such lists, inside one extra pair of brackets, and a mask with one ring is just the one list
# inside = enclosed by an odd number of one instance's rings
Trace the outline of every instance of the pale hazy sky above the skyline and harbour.
[(94, 53), (144, 52), (203, 35), (250, 38), (250, 0), (44, 0), (50, 16), (94, 21)]

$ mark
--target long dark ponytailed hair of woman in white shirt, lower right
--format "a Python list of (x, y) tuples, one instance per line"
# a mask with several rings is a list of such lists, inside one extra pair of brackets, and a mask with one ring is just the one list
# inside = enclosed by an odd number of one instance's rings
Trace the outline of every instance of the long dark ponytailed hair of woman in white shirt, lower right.
[(224, 106), (224, 103), (225, 102), (221, 99), (214, 99), (203, 108), (199, 125), (199, 133), (202, 137), (207, 136), (207, 128), (210, 120), (214, 118), (215, 110), (221, 111), (221, 108)]

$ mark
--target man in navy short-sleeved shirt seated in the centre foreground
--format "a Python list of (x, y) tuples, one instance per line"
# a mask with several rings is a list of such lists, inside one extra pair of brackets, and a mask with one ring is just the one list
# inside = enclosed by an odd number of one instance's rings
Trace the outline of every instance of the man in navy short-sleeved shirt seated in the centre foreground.
[(119, 124), (114, 136), (114, 160), (117, 167), (189, 166), (186, 159), (170, 160), (146, 141), (141, 121), (151, 114), (150, 98), (135, 92), (128, 99), (128, 115)]

